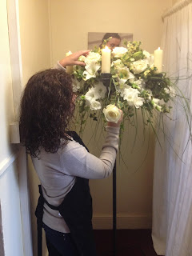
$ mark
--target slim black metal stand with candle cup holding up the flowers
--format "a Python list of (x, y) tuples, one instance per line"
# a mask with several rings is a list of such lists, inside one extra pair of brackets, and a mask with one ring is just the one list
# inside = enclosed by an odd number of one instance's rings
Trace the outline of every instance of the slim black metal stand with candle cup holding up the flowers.
[[(102, 82), (108, 89), (110, 86), (110, 78), (111, 74), (109, 73), (102, 73), (101, 74)], [(117, 182), (116, 182), (116, 161), (114, 163), (114, 170), (113, 170), (113, 254), (116, 255), (116, 230), (117, 230)]]

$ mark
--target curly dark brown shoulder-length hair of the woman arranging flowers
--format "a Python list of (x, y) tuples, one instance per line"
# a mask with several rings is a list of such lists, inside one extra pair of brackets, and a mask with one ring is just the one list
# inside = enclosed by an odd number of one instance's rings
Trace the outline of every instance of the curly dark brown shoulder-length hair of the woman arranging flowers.
[[(73, 117), (72, 81), (65, 70), (50, 69), (34, 74), (26, 84), (20, 106), (20, 137), (34, 158), (43, 148), (55, 153), (67, 143), (66, 131)], [(66, 138), (61, 142), (61, 138)]]

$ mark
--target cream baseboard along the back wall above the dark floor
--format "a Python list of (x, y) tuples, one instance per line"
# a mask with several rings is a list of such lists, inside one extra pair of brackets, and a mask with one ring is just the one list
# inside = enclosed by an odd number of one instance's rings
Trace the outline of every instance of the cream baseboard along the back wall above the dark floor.
[[(113, 228), (113, 216), (93, 216), (94, 230), (111, 230)], [(150, 229), (152, 217), (148, 215), (117, 214), (117, 229)]]

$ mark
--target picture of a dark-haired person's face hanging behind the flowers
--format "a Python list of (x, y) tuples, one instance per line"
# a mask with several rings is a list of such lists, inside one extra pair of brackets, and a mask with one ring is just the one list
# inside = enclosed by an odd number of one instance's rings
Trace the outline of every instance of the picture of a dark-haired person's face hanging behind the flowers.
[(88, 49), (93, 50), (94, 46), (102, 46), (104, 39), (111, 38), (108, 47), (123, 46), (124, 40), (133, 41), (132, 33), (105, 33), (105, 32), (88, 32)]

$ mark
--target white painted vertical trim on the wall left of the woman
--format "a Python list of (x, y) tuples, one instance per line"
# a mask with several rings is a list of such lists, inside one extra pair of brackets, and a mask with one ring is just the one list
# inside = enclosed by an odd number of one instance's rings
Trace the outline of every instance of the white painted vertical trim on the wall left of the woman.
[[(22, 94), (22, 54), (19, 29), (18, 0), (7, 0), (7, 14), (10, 38), (10, 65), (14, 97), (14, 121), (18, 120)], [(20, 146), (18, 154), (19, 194), (22, 218), (22, 242), (25, 256), (33, 256), (30, 199), (27, 181), (26, 149)]]

